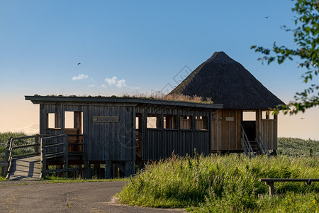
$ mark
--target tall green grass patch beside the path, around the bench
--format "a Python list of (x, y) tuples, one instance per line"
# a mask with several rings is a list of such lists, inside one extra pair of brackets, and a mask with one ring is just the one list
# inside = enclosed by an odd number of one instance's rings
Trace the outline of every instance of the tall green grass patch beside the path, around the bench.
[[(305, 208), (318, 210), (319, 183), (276, 183), (276, 193), (290, 193), (290, 197), (258, 197), (258, 194), (267, 194), (269, 190), (264, 182), (258, 182), (258, 178), (319, 178), (318, 168), (318, 158), (173, 156), (147, 165), (143, 172), (130, 178), (117, 196), (125, 204), (190, 207), (197, 212), (286, 211), (289, 209), (288, 200), (292, 200), (296, 208), (301, 203)], [(307, 195), (294, 196), (294, 193)], [(279, 207), (278, 203), (282, 202), (287, 205)]]

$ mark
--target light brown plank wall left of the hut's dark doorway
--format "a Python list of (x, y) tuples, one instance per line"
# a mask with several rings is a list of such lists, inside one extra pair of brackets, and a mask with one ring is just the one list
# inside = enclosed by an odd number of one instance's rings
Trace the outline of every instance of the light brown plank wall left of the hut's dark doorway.
[(242, 151), (240, 144), (240, 109), (218, 109), (211, 121), (211, 150)]

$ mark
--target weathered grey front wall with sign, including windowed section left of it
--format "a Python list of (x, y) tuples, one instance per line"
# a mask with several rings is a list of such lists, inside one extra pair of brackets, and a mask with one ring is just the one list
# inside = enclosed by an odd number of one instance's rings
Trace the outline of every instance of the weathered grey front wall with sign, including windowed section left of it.
[[(122, 104), (123, 105), (123, 104)], [(61, 134), (65, 129), (65, 111), (83, 112), (84, 160), (133, 160), (135, 146), (134, 107), (108, 104), (41, 104), (40, 133)], [(55, 113), (55, 128), (48, 129), (47, 114)], [(94, 122), (94, 116), (118, 116), (118, 122)], [(77, 116), (74, 116), (76, 121)], [(74, 123), (77, 124), (77, 123)], [(82, 126), (78, 126), (79, 129)]]

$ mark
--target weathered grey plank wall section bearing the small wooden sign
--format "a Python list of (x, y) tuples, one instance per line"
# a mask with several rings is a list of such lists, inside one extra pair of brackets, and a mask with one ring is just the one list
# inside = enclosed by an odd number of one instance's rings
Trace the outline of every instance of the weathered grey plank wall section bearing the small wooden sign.
[[(88, 160), (133, 160), (135, 116), (133, 107), (84, 106), (84, 138)], [(98, 123), (93, 116), (118, 116), (118, 122)]]

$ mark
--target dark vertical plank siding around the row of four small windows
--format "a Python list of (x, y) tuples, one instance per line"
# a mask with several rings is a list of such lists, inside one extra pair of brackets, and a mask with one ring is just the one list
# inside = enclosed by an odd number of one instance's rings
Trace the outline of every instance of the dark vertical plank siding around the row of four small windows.
[[(145, 113), (145, 111), (147, 111)], [(137, 107), (136, 113), (142, 114), (142, 120), (146, 123), (147, 114), (175, 115), (177, 122), (180, 122), (179, 116), (207, 116), (210, 117), (211, 111), (200, 111), (196, 109), (172, 109), (167, 107)], [(172, 156), (174, 154), (185, 156), (186, 154), (194, 156), (194, 148), (199, 154), (208, 155), (211, 153), (210, 130), (181, 130), (177, 129), (147, 129), (142, 125), (142, 160), (159, 160)], [(179, 126), (179, 125), (177, 125)], [(209, 125), (207, 125), (209, 126)]]

